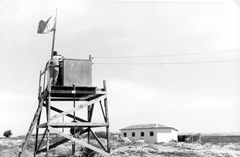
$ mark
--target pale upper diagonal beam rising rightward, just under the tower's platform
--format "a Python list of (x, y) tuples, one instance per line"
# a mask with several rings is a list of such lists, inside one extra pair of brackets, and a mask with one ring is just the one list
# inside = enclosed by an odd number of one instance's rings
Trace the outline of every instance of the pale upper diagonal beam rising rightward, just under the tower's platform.
[(62, 113), (60, 113), (60, 114), (57, 114), (57, 115), (54, 115), (54, 116), (50, 117), (50, 121), (52, 121), (52, 120), (54, 120), (54, 119), (57, 119), (57, 118), (60, 118), (60, 117), (62, 117), (62, 116), (65, 116), (65, 115), (67, 115), (67, 114), (69, 114), (69, 113), (72, 113), (72, 112), (74, 112), (74, 111), (80, 110), (80, 109), (82, 109), (82, 108), (84, 108), (84, 107), (87, 107), (87, 106), (89, 106), (89, 105), (91, 105), (91, 104), (94, 104), (94, 103), (96, 103), (97, 101), (100, 101), (100, 100), (105, 99), (105, 98), (106, 98), (106, 95), (103, 95), (103, 96), (101, 96), (101, 97), (99, 97), (99, 98), (96, 98), (96, 99), (94, 99), (94, 100), (91, 100), (91, 101), (89, 101), (89, 102), (87, 102), (87, 103), (83, 103), (83, 104), (81, 104), (81, 105), (79, 105), (79, 106), (77, 106), (77, 107), (73, 107), (73, 108), (71, 108), (71, 109), (69, 109), (69, 110), (67, 110), (67, 111), (64, 111), (64, 112), (62, 112)]

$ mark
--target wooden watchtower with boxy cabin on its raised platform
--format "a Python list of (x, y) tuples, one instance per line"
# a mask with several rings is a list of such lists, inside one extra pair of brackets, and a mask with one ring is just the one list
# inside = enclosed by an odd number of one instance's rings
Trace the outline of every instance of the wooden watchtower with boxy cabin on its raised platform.
[[(109, 156), (109, 117), (106, 82), (103, 81), (102, 88), (92, 86), (91, 56), (87, 60), (65, 58), (60, 63), (59, 77), (55, 85), (51, 83), (50, 73), (52, 69), (53, 66), (48, 64), (43, 71), (40, 71), (38, 107), (25, 141), (22, 144), (19, 157), (26, 149), (34, 128), (36, 128), (34, 156), (45, 153), (48, 157), (51, 149), (68, 141), (72, 141), (72, 152), (69, 156), (78, 154), (76, 145), (81, 145), (104, 156)], [(69, 108), (63, 110), (61, 105), (56, 102), (67, 103)], [(101, 108), (103, 122), (92, 121), (94, 108), (97, 106)], [(41, 114), (44, 108), (46, 109), (46, 115)], [(87, 110), (87, 113), (84, 115), (85, 117), (82, 117), (77, 111), (84, 108)], [(67, 122), (63, 119), (70, 119), (70, 121)], [(42, 122), (42, 120), (45, 120), (45, 122)], [(93, 131), (93, 128), (98, 127), (105, 128), (106, 144), (103, 144)], [(70, 131), (64, 131), (64, 128), (69, 128), (68, 130)], [(40, 129), (44, 132), (43, 134), (40, 134)], [(84, 134), (86, 134), (87, 140), (81, 138), (81, 135)], [(53, 139), (53, 135), (58, 138)], [(90, 138), (90, 136), (93, 138)], [(91, 144), (92, 139), (96, 141), (95, 143), (98, 146)]]

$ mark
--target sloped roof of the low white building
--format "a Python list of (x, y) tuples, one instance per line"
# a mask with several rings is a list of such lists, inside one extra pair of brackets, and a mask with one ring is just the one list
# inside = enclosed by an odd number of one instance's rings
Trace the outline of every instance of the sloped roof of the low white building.
[(138, 124), (138, 125), (130, 125), (128, 127), (122, 128), (120, 130), (138, 130), (138, 129), (173, 129), (178, 131), (173, 127), (168, 127), (161, 124)]

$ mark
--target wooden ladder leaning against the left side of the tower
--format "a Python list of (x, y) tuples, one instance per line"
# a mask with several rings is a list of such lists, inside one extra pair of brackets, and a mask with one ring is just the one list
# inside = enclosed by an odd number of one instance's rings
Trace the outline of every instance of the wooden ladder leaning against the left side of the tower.
[(43, 99), (39, 100), (37, 111), (36, 111), (35, 114), (34, 114), (33, 120), (32, 120), (32, 122), (31, 122), (31, 124), (30, 124), (30, 127), (29, 127), (29, 129), (28, 129), (28, 132), (27, 132), (27, 134), (26, 134), (26, 137), (25, 137), (25, 139), (24, 139), (24, 141), (23, 141), (23, 144), (22, 144), (22, 146), (21, 146), (21, 148), (20, 148), (18, 157), (21, 157), (23, 151), (26, 149), (26, 146), (27, 146), (27, 144), (28, 144), (28, 140), (29, 140), (29, 138), (30, 138), (31, 135), (32, 135), (33, 129), (34, 129), (34, 127), (35, 127), (35, 125), (36, 125), (36, 122), (37, 122), (38, 119), (39, 119), (39, 115), (40, 115), (40, 113), (41, 113), (41, 111), (42, 111), (43, 101), (44, 101)]

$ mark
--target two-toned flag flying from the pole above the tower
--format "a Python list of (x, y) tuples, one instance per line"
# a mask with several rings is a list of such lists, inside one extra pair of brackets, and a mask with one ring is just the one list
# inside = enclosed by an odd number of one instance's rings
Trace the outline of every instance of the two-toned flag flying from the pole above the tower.
[(45, 34), (52, 32), (56, 29), (56, 18), (57, 14), (55, 13), (53, 16), (48, 18), (46, 21), (41, 20), (38, 24), (38, 31), (39, 34)]

